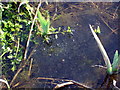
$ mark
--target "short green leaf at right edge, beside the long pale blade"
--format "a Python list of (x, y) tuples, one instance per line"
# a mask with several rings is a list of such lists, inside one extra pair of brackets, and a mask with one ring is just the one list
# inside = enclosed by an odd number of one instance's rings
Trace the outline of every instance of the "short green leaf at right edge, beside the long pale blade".
[(120, 62), (120, 59), (118, 59), (118, 50), (116, 50), (113, 58), (113, 63), (112, 63), (112, 69), (114, 72), (118, 70), (119, 62)]

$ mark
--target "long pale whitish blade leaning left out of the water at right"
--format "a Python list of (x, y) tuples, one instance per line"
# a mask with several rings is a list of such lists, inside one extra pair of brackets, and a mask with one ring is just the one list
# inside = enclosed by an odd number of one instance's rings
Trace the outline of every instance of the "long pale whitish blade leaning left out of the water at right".
[(91, 30), (91, 32), (92, 32), (92, 34), (93, 34), (93, 36), (94, 36), (97, 44), (98, 44), (98, 47), (99, 47), (99, 49), (100, 49), (100, 52), (101, 52), (101, 54), (102, 54), (102, 56), (103, 56), (103, 59), (104, 59), (104, 61), (105, 61), (105, 64), (106, 64), (106, 66), (107, 66), (107, 72), (108, 72), (108, 74), (112, 74), (112, 65), (111, 65), (111, 63), (110, 63), (110, 59), (109, 59), (109, 57), (108, 57), (108, 55), (107, 55), (107, 52), (105, 51), (105, 49), (104, 49), (104, 47), (103, 47), (100, 39), (98, 38), (98, 36), (97, 36), (96, 33), (94, 32), (92, 26), (91, 26), (91, 25), (89, 25), (89, 26), (90, 26), (90, 30)]

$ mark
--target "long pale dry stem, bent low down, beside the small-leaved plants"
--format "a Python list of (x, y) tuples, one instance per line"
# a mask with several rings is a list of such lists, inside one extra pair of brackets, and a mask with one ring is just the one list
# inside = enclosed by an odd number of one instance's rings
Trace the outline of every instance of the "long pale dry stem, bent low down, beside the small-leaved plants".
[[(30, 29), (28, 40), (27, 40), (27, 44), (26, 44), (26, 50), (25, 50), (24, 58), (23, 58), (24, 61), (26, 60), (26, 57), (27, 57), (27, 52), (28, 52), (28, 49), (29, 49), (29, 43), (30, 43), (30, 38), (31, 38), (31, 35), (32, 35), (33, 26), (34, 26), (35, 20), (37, 18), (37, 12), (38, 12), (40, 6), (41, 6), (41, 2), (39, 3), (39, 5), (37, 7), (36, 14), (35, 14), (35, 17), (33, 19), (32, 25), (31, 25), (31, 29)], [(27, 60), (29, 60), (29, 57), (28, 57)], [(25, 64), (20, 69), (18, 69), (18, 71), (16, 72), (16, 74), (13, 77), (12, 81), (10, 82), (10, 86), (12, 85), (12, 83), (14, 82), (14, 80), (16, 79), (16, 77), (18, 76), (18, 74), (20, 73), (20, 71), (25, 67), (26, 63), (27, 62), (25, 62)]]

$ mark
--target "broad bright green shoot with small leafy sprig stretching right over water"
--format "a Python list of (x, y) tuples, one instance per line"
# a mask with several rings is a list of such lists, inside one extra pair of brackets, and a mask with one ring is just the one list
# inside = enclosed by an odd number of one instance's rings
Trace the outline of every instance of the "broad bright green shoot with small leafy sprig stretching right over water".
[(48, 36), (51, 34), (54, 34), (56, 36), (56, 39), (58, 37), (57, 34), (59, 34), (59, 33), (62, 33), (62, 34), (71, 33), (72, 34), (72, 30), (70, 29), (70, 27), (68, 27), (68, 29), (66, 31), (61, 31), (60, 27), (58, 29), (52, 27), (51, 22), (50, 22), (49, 12), (46, 11), (46, 13), (47, 13), (47, 19), (45, 19), (45, 17), (42, 16), (40, 11), (37, 12), (37, 14), (38, 14), (37, 20), (39, 22), (39, 24), (37, 24), (38, 30), (39, 30), (37, 34), (40, 34), (41, 36), (43, 36), (45, 41), (49, 42)]

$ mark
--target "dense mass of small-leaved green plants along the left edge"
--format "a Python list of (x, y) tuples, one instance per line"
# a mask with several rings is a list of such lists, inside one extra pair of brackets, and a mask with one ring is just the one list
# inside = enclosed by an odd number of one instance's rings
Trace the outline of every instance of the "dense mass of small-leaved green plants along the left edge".
[[(0, 39), (2, 46), (2, 61), (3, 74), (7, 74), (9, 70), (13, 72), (17, 69), (16, 66), (20, 64), (23, 58), (24, 46), (23, 43), (29, 28), (29, 19), (25, 13), (17, 12), (17, 4), (9, 3), (3, 4), (2, 9), (2, 29), (0, 30)], [(23, 18), (21, 17), (23, 16)], [(24, 23), (26, 29), (22, 30)]]

